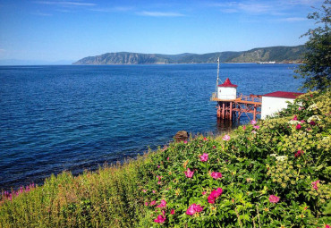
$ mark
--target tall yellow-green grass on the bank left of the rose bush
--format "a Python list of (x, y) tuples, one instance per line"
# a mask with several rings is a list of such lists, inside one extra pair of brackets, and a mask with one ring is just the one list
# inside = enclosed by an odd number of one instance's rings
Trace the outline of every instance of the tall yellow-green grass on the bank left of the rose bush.
[(0, 205), (0, 227), (133, 227), (144, 213), (138, 186), (149, 156), (98, 172), (51, 176), (43, 186)]

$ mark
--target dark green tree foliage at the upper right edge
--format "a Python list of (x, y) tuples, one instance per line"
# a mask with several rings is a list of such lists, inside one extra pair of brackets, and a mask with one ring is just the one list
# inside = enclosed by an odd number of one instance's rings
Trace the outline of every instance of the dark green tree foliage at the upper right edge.
[(310, 13), (308, 19), (316, 21), (318, 27), (310, 29), (301, 37), (308, 36), (305, 46), (307, 52), (304, 55), (304, 64), (295, 71), (294, 78), (305, 79), (301, 89), (325, 90), (331, 84), (331, 1), (326, 0), (317, 12)]

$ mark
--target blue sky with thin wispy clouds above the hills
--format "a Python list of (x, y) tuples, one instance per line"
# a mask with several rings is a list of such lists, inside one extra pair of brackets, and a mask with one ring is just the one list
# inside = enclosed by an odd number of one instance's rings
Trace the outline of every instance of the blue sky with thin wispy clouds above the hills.
[(296, 46), (323, 0), (0, 0), (0, 60)]

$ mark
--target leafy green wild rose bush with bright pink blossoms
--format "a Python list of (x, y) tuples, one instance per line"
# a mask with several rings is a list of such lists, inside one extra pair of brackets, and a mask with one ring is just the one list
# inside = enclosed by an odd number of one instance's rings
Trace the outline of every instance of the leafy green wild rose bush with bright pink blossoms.
[(217, 139), (171, 144), (152, 155), (155, 178), (144, 183), (141, 196), (166, 206), (146, 207), (142, 224), (326, 227), (330, 95), (306, 94), (276, 119), (251, 122)]

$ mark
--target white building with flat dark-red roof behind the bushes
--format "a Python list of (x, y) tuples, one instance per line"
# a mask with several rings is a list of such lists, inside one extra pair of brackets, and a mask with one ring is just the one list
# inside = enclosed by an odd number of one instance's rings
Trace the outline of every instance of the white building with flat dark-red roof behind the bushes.
[(276, 91), (262, 95), (261, 119), (272, 116), (287, 107), (287, 101), (293, 102), (302, 93)]

